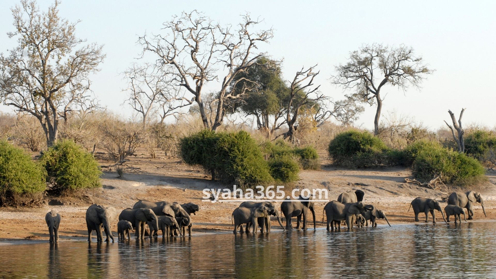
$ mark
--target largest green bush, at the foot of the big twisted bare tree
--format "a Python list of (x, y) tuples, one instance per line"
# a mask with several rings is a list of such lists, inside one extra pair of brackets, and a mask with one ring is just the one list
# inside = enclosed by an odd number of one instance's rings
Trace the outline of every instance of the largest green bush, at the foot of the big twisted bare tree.
[(187, 164), (202, 165), (212, 179), (252, 187), (272, 181), (260, 147), (245, 131), (214, 133), (203, 130), (180, 140)]

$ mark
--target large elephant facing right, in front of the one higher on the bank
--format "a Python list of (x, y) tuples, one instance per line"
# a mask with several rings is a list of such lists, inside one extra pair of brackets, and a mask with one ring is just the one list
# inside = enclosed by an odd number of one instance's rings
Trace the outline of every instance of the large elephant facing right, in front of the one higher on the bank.
[(342, 220), (346, 220), (348, 231), (350, 231), (353, 228), (355, 215), (363, 215), (366, 210), (373, 209), (372, 205), (365, 205), (363, 202), (342, 204), (338, 201), (332, 201), (325, 205), (322, 215), (324, 212), (327, 215), (327, 231), (329, 231), (329, 225), (331, 226), (331, 231), (334, 230), (334, 226), (338, 229), (338, 225), (339, 229), (341, 229)]

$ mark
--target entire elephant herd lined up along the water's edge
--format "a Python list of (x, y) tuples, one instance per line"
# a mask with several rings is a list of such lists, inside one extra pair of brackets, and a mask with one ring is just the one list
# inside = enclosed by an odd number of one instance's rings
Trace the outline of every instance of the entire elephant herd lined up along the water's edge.
[[(363, 202), (364, 192), (362, 190), (347, 191), (341, 193), (337, 201), (327, 203), (323, 209), (322, 214), (327, 216), (327, 230), (340, 230), (341, 222), (344, 221), (348, 230), (352, 229), (354, 224), (363, 227), (364, 224), (368, 225), (371, 222), (372, 227), (376, 227), (376, 219), (385, 219), (387, 224), (386, 214), (383, 210), (375, 208), (373, 205), (366, 205)], [(433, 217), (435, 223), (434, 210), (441, 212), (442, 218), (445, 222), (449, 222), (451, 215), (455, 216), (455, 223), (457, 220), (461, 222), (461, 214), (463, 214), (465, 221), (466, 216), (464, 208), (468, 211), (468, 219), (473, 219), (474, 204), (480, 203), (484, 215), (484, 202), (481, 194), (478, 192), (468, 191), (466, 193), (453, 192), (449, 195), (448, 205), (444, 208), (446, 218), (444, 218), (443, 210), (440, 203), (434, 199), (428, 198), (415, 198), (410, 203), (410, 208), (413, 209), (415, 214), (415, 221), (419, 221), (419, 213), (424, 212), (426, 215), (425, 222), (429, 221), (429, 213)], [(410, 210), (410, 208), (408, 210)], [(119, 222), (117, 223), (118, 238), (124, 241), (125, 238), (130, 239), (130, 232), (135, 232), (135, 237), (143, 239), (145, 236), (146, 225), (150, 228), (149, 236), (158, 236), (158, 230), (162, 231), (164, 238), (186, 235), (186, 227), (188, 228), (188, 235), (191, 236), (191, 214), (195, 214), (200, 207), (193, 203), (180, 205), (177, 202), (150, 202), (140, 200), (132, 208), (127, 208), (119, 214)], [(253, 232), (256, 233), (258, 227), (261, 232), (270, 232), (270, 216), (275, 216), (279, 225), (283, 230), (292, 230), (293, 225), (291, 219), (296, 217), (296, 229), (300, 228), (300, 223), (303, 223), (302, 228), (307, 229), (308, 210), (310, 209), (313, 217), (313, 229), (316, 228), (315, 208), (314, 202), (311, 198), (299, 197), (295, 200), (284, 201), (281, 204), (280, 210), (286, 219), (286, 226), (283, 226), (279, 210), (272, 202), (244, 202), (237, 209), (233, 211), (232, 220), (234, 223), (234, 233), (239, 230), (243, 232), (243, 225), (246, 224), (245, 232), (250, 231), (253, 226)], [(487, 216), (487, 215), (486, 215)], [(106, 240), (114, 242), (112, 235), (112, 223), (117, 217), (117, 210), (113, 207), (104, 207), (101, 205), (91, 205), (86, 210), (86, 226), (88, 229), (88, 241), (91, 242), (91, 233), (96, 231), (97, 241), (103, 241), (102, 229), (106, 234)], [(45, 221), (48, 225), (50, 232), (50, 242), (59, 241), (59, 225), (61, 216), (56, 210), (48, 212), (45, 216)], [(323, 215), (322, 215), (323, 221)]]

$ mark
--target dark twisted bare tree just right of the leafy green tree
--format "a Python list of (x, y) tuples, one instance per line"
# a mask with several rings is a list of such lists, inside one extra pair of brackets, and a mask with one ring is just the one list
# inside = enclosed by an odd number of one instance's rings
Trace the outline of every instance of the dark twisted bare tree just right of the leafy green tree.
[[(302, 107), (309, 106), (309, 108), (311, 108), (311, 106), (328, 99), (323, 94), (319, 94), (318, 88), (320, 85), (311, 89), (313, 79), (319, 73), (318, 71), (314, 71), (316, 66), (317, 65), (312, 66), (307, 70), (303, 67), (302, 70), (296, 72), (293, 81), (291, 81), (289, 102), (288, 107), (286, 108), (286, 124), (288, 124), (288, 132), (281, 135), (283, 136), (283, 139), (289, 138), (291, 141), (296, 140), (294, 135), (296, 130), (295, 124)], [(311, 98), (314, 93), (316, 96)]]

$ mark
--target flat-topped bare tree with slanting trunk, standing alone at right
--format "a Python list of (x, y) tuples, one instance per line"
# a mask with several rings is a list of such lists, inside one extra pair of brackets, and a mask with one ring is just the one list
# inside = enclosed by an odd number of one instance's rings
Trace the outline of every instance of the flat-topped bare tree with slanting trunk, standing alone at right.
[(336, 67), (332, 83), (354, 89), (351, 96), (364, 103), (377, 105), (374, 118), (374, 135), (379, 132), (379, 118), (384, 96), (381, 89), (390, 84), (405, 90), (410, 84), (420, 88), (427, 74), (433, 72), (416, 57), (411, 47), (384, 47), (380, 44), (364, 45), (350, 53), (349, 62)]

